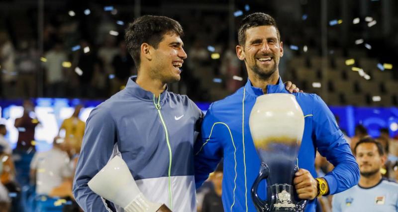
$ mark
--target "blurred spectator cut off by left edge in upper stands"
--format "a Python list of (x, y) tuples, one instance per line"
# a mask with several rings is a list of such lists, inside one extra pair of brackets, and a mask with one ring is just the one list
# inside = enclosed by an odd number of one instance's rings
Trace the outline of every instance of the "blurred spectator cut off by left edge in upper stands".
[(0, 75), (1, 75), (1, 96), (9, 98), (15, 94), (15, 50), (8, 34), (0, 32)]

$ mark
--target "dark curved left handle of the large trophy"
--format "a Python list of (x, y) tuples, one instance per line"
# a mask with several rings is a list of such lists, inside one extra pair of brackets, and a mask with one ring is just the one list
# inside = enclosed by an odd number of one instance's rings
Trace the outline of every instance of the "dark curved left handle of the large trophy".
[(266, 212), (269, 210), (268, 203), (264, 200), (261, 200), (257, 193), (260, 182), (264, 179), (267, 179), (269, 173), (270, 173), (270, 168), (268, 167), (268, 165), (264, 162), (261, 163), (260, 173), (257, 176), (252, 186), (251, 196), (254, 202), (254, 206), (256, 207), (258, 212)]

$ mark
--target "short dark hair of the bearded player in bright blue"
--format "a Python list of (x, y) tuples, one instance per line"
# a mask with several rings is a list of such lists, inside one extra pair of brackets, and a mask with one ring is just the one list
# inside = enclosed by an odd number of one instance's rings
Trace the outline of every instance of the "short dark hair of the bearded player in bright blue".
[(281, 34), (277, 26), (275, 19), (269, 15), (262, 12), (252, 13), (247, 15), (242, 19), (239, 25), (238, 31), (238, 42), (240, 46), (244, 46), (246, 42), (246, 30), (258, 27), (258, 26), (274, 26), (278, 34), (278, 42), (281, 42)]

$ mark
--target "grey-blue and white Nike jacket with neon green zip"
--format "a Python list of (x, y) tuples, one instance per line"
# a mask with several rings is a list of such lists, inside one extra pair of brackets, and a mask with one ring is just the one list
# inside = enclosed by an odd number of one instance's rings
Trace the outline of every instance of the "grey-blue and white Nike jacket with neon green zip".
[(123, 211), (105, 204), (87, 185), (119, 155), (150, 201), (173, 212), (196, 211), (193, 148), (202, 112), (186, 95), (166, 89), (157, 98), (134, 80), (90, 113), (73, 183), (75, 199), (85, 212)]

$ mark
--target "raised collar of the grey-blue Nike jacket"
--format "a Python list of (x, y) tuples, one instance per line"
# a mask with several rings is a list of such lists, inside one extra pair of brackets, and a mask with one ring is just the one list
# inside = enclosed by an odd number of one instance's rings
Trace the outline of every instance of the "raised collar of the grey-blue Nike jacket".
[[(144, 90), (142, 87), (140, 87), (135, 80), (137, 79), (137, 76), (131, 76), (128, 78), (127, 85), (124, 89), (131, 94), (134, 97), (137, 97), (138, 99), (144, 100), (144, 101), (153, 101), (153, 93), (151, 91)], [(166, 89), (160, 94), (160, 101), (163, 102), (167, 95), (167, 85)], [(155, 97), (155, 99), (158, 99), (158, 96)]]

